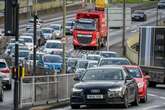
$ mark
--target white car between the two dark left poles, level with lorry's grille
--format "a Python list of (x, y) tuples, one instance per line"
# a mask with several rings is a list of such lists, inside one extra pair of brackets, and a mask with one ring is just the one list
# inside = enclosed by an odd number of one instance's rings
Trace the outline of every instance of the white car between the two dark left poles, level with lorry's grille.
[(21, 39), (24, 39), (25, 45), (29, 50), (33, 49), (33, 36), (20, 36)]

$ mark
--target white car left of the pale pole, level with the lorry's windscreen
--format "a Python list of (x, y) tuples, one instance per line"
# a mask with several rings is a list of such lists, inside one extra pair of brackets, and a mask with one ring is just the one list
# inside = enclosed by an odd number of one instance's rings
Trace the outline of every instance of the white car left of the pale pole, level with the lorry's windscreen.
[(56, 39), (62, 38), (63, 29), (61, 24), (51, 24), (50, 28), (53, 29), (53, 34)]

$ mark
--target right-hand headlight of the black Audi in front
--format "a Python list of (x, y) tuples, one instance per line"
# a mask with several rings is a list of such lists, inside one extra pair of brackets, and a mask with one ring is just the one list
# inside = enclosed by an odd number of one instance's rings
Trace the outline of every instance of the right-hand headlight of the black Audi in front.
[(108, 97), (122, 97), (123, 87), (108, 89)]

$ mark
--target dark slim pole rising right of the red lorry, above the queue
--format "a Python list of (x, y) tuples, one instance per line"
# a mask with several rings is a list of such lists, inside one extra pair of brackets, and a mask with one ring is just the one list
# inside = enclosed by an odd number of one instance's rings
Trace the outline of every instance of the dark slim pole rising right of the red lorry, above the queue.
[(125, 56), (126, 48), (125, 48), (125, 6), (126, 0), (123, 0), (123, 37), (122, 37), (122, 47), (123, 47), (123, 56)]

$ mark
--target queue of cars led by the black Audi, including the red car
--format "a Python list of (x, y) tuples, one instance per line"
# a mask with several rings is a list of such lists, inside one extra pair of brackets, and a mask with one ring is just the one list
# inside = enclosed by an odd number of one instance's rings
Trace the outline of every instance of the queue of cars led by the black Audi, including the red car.
[(96, 104), (120, 104), (128, 108), (129, 104), (147, 102), (150, 77), (116, 52), (100, 51), (68, 58), (67, 72), (76, 74), (77, 83), (70, 96), (73, 109)]

